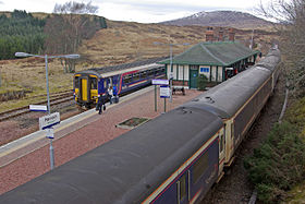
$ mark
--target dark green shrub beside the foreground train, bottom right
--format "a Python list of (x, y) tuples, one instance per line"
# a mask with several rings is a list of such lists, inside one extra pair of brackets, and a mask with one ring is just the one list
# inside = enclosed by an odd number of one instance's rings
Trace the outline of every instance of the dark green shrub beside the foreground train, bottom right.
[(244, 160), (264, 203), (277, 203), (305, 177), (305, 145), (295, 125), (276, 124), (265, 143)]

